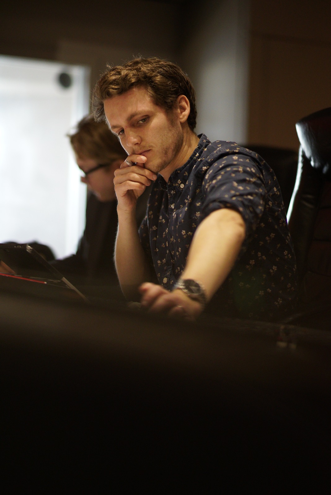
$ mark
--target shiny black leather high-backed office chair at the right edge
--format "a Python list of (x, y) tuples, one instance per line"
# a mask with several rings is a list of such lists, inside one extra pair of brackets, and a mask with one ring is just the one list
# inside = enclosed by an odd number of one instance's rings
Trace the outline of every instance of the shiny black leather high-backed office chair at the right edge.
[(300, 302), (295, 324), (331, 330), (331, 108), (296, 124), (298, 170), (288, 211)]

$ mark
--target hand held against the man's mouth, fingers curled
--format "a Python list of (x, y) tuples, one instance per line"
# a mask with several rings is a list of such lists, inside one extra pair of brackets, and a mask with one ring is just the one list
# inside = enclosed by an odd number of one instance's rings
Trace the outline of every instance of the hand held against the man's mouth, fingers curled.
[(144, 168), (146, 160), (144, 155), (130, 154), (115, 170), (114, 186), (119, 209), (131, 211), (139, 196), (157, 178), (157, 175)]

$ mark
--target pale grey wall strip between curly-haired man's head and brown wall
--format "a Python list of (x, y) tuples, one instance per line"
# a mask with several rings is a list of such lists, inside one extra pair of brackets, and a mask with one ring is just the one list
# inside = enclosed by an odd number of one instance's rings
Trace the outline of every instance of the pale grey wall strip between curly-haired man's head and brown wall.
[(248, 7), (247, 0), (208, 2), (206, 15), (194, 16), (178, 57), (197, 95), (196, 131), (212, 141), (247, 140)]

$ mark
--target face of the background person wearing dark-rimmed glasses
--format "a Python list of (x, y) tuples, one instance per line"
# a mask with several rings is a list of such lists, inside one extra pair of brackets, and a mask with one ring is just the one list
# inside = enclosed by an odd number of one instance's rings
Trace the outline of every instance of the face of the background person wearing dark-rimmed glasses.
[[(119, 163), (122, 160), (119, 160)], [(97, 167), (101, 162), (93, 158), (86, 158), (76, 154), (76, 162), (82, 172), (87, 173), (94, 167)], [(99, 168), (91, 172), (86, 177), (81, 177), (81, 182), (87, 184), (88, 190), (92, 191), (100, 201), (112, 201), (115, 199), (114, 190), (114, 170), (118, 168), (118, 164), (111, 164), (105, 168)]]

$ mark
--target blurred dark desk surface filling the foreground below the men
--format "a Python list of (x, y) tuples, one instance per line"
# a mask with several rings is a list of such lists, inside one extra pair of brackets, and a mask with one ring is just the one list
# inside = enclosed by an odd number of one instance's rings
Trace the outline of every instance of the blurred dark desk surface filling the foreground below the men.
[(330, 486), (331, 333), (0, 292), (0, 344), (5, 493)]

